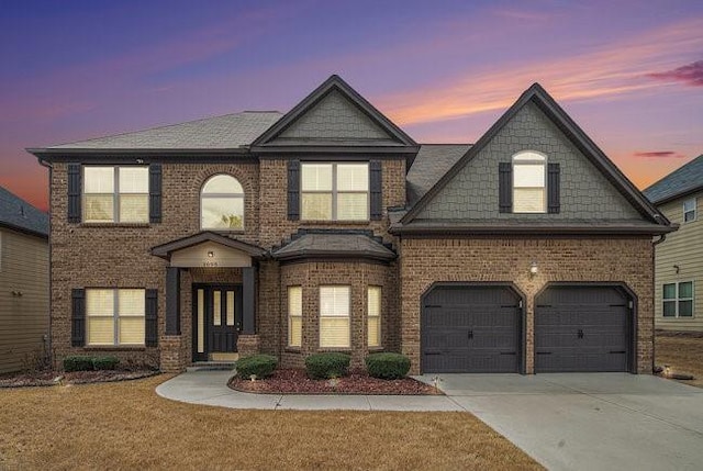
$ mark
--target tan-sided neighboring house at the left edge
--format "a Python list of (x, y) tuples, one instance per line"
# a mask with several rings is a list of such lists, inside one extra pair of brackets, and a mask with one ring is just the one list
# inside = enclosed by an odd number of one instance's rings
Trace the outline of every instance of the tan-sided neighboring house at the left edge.
[(48, 215), (0, 187), (0, 373), (48, 356)]

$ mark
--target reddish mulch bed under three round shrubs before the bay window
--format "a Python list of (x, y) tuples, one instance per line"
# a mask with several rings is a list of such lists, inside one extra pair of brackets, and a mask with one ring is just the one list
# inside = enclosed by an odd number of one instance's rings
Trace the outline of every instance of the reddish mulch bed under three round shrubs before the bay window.
[(335, 380), (311, 380), (304, 370), (276, 370), (264, 380), (233, 378), (230, 388), (259, 394), (392, 394), (440, 395), (440, 391), (412, 378), (379, 380), (365, 371), (353, 371)]

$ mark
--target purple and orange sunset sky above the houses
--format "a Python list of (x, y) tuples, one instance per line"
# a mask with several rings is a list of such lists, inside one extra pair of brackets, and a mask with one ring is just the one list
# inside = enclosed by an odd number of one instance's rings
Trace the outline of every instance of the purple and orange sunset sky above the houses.
[(25, 147), (243, 110), (342, 76), (420, 143), (472, 143), (540, 82), (639, 188), (703, 154), (703, 1), (30, 1), (0, 10), (0, 186)]

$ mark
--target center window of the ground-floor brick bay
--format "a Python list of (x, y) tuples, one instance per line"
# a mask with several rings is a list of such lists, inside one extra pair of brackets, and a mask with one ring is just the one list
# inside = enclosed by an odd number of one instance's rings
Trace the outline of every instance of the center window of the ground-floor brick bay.
[(349, 348), (350, 287), (320, 287), (320, 347)]

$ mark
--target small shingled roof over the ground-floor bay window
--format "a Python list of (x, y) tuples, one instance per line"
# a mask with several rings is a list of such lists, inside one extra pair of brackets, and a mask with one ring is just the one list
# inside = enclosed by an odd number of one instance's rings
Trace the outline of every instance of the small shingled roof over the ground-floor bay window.
[(371, 258), (392, 260), (395, 253), (365, 234), (313, 233), (293, 238), (271, 255), (278, 260), (299, 258)]

